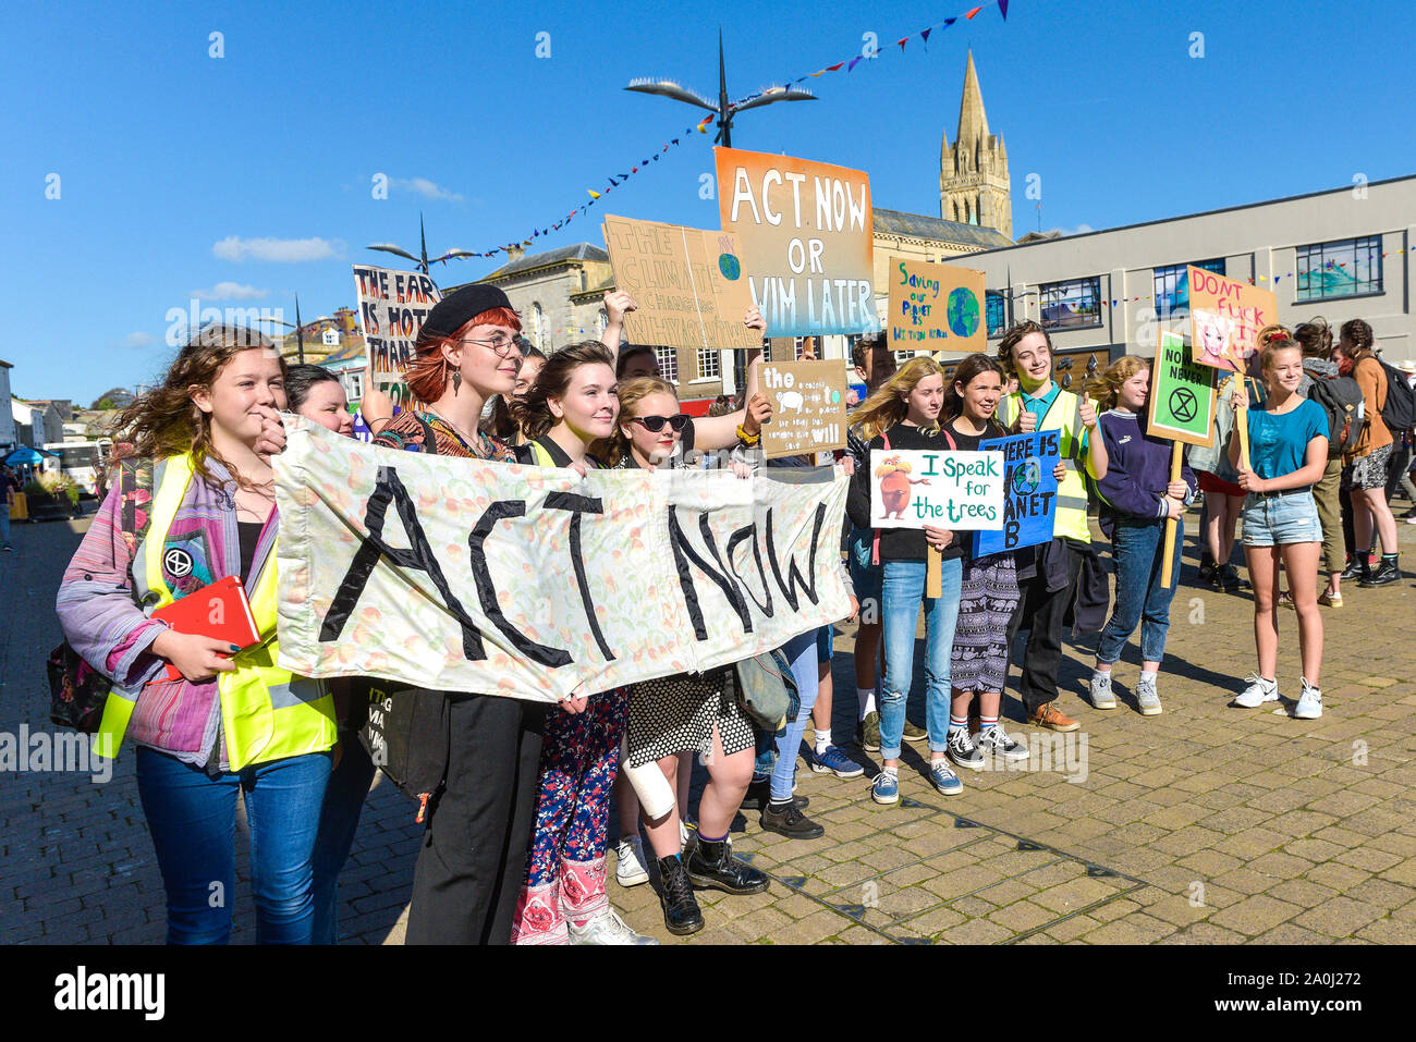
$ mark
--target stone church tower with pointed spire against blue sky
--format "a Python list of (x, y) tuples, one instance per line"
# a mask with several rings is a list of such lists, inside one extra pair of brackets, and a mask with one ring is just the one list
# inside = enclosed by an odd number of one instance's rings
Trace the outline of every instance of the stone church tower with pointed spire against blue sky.
[(939, 215), (944, 221), (997, 228), (1012, 238), (1008, 150), (1001, 134), (988, 133), (971, 50), (959, 102), (959, 133), (950, 147), (946, 130), (939, 147)]

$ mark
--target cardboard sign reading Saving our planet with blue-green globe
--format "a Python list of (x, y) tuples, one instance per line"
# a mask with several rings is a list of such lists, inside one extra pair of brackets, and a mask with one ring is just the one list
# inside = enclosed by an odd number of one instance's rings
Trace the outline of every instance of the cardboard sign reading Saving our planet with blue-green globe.
[(892, 351), (984, 351), (983, 272), (925, 260), (889, 262)]

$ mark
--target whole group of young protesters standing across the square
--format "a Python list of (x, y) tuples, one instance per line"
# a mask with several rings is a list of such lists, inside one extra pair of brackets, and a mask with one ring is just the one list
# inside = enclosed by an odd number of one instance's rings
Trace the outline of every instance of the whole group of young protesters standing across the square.
[[(688, 416), (654, 351), (622, 344), (633, 307), (624, 293), (606, 294), (609, 326), (600, 341), (542, 357), (520, 337), (517, 313), (500, 289), (473, 285), (450, 293), (426, 316), (404, 374), (413, 403), (394, 415), (387, 399), (365, 396), (375, 443), (579, 476), (685, 467), (704, 453), (721, 453), (724, 466), (749, 477), (762, 466), (763, 425), (772, 422), (767, 395), (758, 389), (762, 353), (752, 353), (739, 401), (719, 402), (716, 415)], [(765, 330), (756, 309), (745, 324)], [(850, 474), (840, 565), (850, 619), (860, 620), (858, 732), (833, 736), (830, 624), (782, 648), (800, 708), (775, 733), (746, 712), (731, 665), (555, 704), (399, 689), (392, 695), (399, 705), (432, 722), (419, 732), (429, 780), (418, 813), (426, 831), (406, 940), (657, 943), (610, 906), (612, 803), (620, 823), (619, 885), (646, 883), (656, 869), (666, 929), (702, 929), (695, 891), (750, 895), (769, 885), (732, 852), (729, 828), (741, 810), (760, 811), (762, 828), (786, 837), (824, 835), (824, 825), (806, 814), (809, 798), (794, 791), (809, 726), (814, 742), (804, 759), (813, 772), (860, 777), (865, 770), (847, 749), (879, 755), (869, 787), (879, 804), (901, 798), (905, 742), (927, 742), (927, 783), (943, 796), (963, 791), (956, 769), (1027, 760), (1027, 743), (1007, 732), (1003, 718), (1020, 630), (1028, 631), (1018, 694), (1029, 725), (1063, 733), (1080, 726), (1058, 701), (1069, 624), (1100, 633), (1087, 685), (1099, 711), (1117, 708), (1116, 664), (1140, 627), (1136, 709), (1161, 714), (1160, 670), (1175, 586), (1163, 573), (1178, 576), (1181, 554), (1181, 538), (1167, 542), (1165, 528), (1181, 521), (1201, 490), (1208, 518), (1202, 580), (1238, 585), (1229, 558), (1233, 522), (1243, 518), (1259, 668), (1235, 705), (1279, 698), (1279, 576), (1287, 573), (1286, 596), (1300, 622), (1296, 715), (1320, 715), (1320, 565), (1331, 582), (1323, 603), (1341, 603), (1342, 578), (1382, 585), (1399, 576), (1393, 515), (1372, 493), (1385, 487), (1391, 446), (1402, 435), (1381, 425), (1386, 374), (1369, 364), (1365, 323), (1344, 326), (1337, 347), (1325, 327), (1318, 334), (1311, 324), (1293, 333), (1270, 327), (1260, 348), (1263, 394), (1250, 394), (1243, 379), (1229, 381), (1216, 449), (1204, 459), (1192, 454), (1172, 479), (1170, 442), (1146, 429), (1146, 358), (1114, 361), (1076, 394), (1054, 379), (1051, 338), (1034, 321), (1010, 328), (994, 355), (960, 358), (949, 375), (929, 357), (896, 368), (884, 338), (855, 344), (852, 362), (867, 392), (851, 413), (847, 449), (769, 466), (833, 464)], [(1369, 394), (1368, 426), (1347, 459), (1330, 456), (1328, 416), (1303, 394), (1304, 379), (1328, 378), (1314, 360), (1345, 367)], [(222, 893), (235, 885), (238, 793), (252, 837), (258, 940), (333, 943), (336, 882), (375, 774), (357, 736), (368, 711), (367, 678), (324, 682), (278, 665), (272, 456), (285, 446), (282, 412), (353, 435), (344, 391), (326, 370), (287, 367), (269, 340), (249, 330), (198, 331), (164, 381), (122, 413), (119, 439), (132, 453), (58, 593), (67, 639), (113, 681), (99, 729), (103, 748), (116, 750), (125, 736), (136, 746), (170, 943), (229, 937), (229, 902), (211, 895), (217, 883)], [(1242, 439), (1231, 436), (1236, 423), (1246, 425), (1247, 454)], [(974, 450), (987, 439), (1042, 430), (1056, 432), (1061, 445), (1046, 542), (980, 556), (961, 532), (872, 525), (874, 452)], [(1354, 515), (1347, 559), (1335, 521), (1340, 490)], [(1089, 493), (1110, 541), (1114, 605), (1109, 571), (1092, 544)], [(1383, 551), (1375, 571), (1365, 554), (1372, 532)], [(261, 644), (241, 648), (152, 617), (227, 576), (245, 586)], [(920, 612), (923, 728), (906, 716)], [(708, 780), (691, 814), (695, 757)], [(643, 796), (644, 777), (671, 793), (667, 810), (650, 814), (649, 806), (660, 804)]]

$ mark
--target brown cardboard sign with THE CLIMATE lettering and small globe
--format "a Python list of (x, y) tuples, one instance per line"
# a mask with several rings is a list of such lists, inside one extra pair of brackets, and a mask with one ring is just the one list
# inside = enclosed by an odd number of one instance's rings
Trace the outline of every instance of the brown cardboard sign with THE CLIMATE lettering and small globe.
[(637, 304), (624, 317), (630, 341), (718, 351), (762, 343), (742, 324), (753, 302), (732, 235), (624, 217), (606, 217), (603, 229), (615, 283)]

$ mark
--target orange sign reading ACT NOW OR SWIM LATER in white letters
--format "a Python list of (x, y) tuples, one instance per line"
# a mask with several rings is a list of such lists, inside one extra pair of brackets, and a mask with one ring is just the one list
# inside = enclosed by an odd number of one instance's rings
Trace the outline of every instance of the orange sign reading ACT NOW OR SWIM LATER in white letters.
[(875, 217), (862, 170), (714, 149), (722, 229), (738, 236), (769, 337), (875, 333)]

